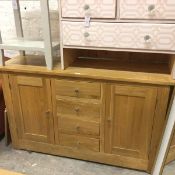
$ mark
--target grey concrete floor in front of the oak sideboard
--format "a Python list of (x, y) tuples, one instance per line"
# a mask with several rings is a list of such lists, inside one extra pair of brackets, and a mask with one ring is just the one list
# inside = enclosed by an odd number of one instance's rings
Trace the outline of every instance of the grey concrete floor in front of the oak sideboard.
[[(80, 161), (58, 156), (15, 150), (0, 142), (0, 168), (27, 175), (147, 175), (129, 169)], [(169, 164), (164, 175), (175, 175), (175, 162)]]

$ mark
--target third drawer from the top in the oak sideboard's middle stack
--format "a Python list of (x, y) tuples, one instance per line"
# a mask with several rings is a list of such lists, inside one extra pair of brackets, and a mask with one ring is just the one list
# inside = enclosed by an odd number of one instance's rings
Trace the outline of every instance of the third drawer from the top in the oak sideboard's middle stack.
[(59, 128), (62, 133), (100, 135), (100, 124), (71, 117), (59, 117)]

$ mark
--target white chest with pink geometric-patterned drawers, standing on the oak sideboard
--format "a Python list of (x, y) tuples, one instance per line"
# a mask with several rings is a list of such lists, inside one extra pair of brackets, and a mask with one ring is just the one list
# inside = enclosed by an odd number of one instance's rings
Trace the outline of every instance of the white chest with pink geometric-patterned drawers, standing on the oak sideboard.
[(64, 49), (175, 54), (174, 0), (60, 0), (59, 5), (62, 69), (72, 62)]

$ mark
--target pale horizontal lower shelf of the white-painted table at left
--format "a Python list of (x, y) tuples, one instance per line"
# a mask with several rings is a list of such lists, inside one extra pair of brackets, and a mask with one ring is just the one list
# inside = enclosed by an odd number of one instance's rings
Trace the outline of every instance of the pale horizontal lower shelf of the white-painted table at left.
[[(52, 42), (53, 50), (59, 48), (59, 42)], [(40, 51), (44, 52), (44, 41), (32, 41), (24, 39), (12, 39), (7, 40), (0, 44), (0, 49), (4, 50), (16, 50), (16, 51)]]

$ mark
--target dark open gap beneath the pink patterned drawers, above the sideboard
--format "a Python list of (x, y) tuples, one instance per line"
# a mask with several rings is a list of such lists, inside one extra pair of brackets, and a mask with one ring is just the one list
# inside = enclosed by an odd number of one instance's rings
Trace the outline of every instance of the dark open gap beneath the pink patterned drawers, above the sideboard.
[(67, 68), (171, 74), (169, 54), (64, 49)]

